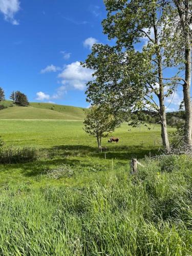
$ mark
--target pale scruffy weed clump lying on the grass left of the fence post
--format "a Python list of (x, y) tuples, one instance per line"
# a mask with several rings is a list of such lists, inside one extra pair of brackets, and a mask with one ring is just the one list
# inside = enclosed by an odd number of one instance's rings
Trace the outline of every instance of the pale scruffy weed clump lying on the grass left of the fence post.
[(74, 175), (74, 171), (69, 164), (61, 164), (55, 169), (48, 170), (47, 176), (52, 179), (70, 178)]

